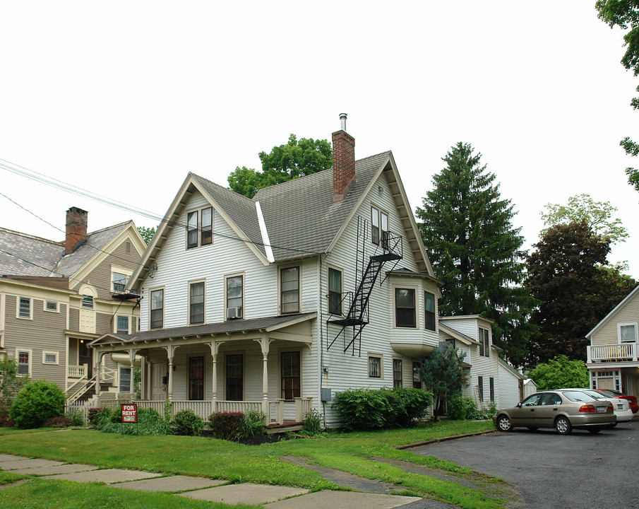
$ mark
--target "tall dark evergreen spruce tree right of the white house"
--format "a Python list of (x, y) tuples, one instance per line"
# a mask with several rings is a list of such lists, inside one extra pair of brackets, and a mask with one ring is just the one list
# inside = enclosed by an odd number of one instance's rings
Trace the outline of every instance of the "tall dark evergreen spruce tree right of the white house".
[(510, 200), (501, 199), (494, 173), (480, 153), (461, 142), (442, 160), (433, 189), (417, 207), (419, 229), (435, 276), (443, 282), (439, 314), (482, 315), (494, 320), (495, 343), (522, 365), (533, 328), (535, 299), (522, 288), (524, 239), (513, 228)]

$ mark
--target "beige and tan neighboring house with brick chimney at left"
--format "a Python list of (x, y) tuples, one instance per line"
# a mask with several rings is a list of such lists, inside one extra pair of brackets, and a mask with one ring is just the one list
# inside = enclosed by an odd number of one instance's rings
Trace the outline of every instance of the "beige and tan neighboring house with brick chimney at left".
[[(139, 327), (139, 299), (125, 292), (145, 244), (132, 221), (87, 233), (88, 213), (66, 211), (54, 242), (0, 228), (0, 358), (18, 373), (59, 385), (68, 402), (95, 394), (90, 341)], [(102, 391), (129, 392), (129, 357), (104, 356)]]

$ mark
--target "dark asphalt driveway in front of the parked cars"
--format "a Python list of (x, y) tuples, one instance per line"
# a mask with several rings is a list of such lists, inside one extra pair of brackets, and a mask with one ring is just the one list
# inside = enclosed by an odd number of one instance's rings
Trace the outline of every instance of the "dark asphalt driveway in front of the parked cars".
[(412, 452), (501, 477), (522, 509), (639, 508), (639, 421), (591, 435), (515, 429), (415, 447)]

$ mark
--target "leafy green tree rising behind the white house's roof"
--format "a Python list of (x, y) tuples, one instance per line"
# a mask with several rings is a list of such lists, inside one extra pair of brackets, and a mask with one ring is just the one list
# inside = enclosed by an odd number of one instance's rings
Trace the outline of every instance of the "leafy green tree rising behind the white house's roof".
[(284, 145), (274, 146), (270, 153), (260, 152), (262, 171), (238, 166), (229, 175), (229, 188), (252, 198), (259, 189), (298, 177), (328, 170), (333, 165), (333, 151), (326, 139), (297, 139), (291, 134)]

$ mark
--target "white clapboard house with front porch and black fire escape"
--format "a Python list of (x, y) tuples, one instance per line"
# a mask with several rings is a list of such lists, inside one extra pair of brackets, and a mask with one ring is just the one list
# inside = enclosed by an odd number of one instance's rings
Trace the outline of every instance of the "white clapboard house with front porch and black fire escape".
[(420, 387), (439, 284), (393, 154), (355, 160), (344, 115), (333, 168), (253, 199), (189, 173), (131, 277), (141, 332), (92, 347), (143, 358), (141, 405), (334, 425), (336, 392)]

